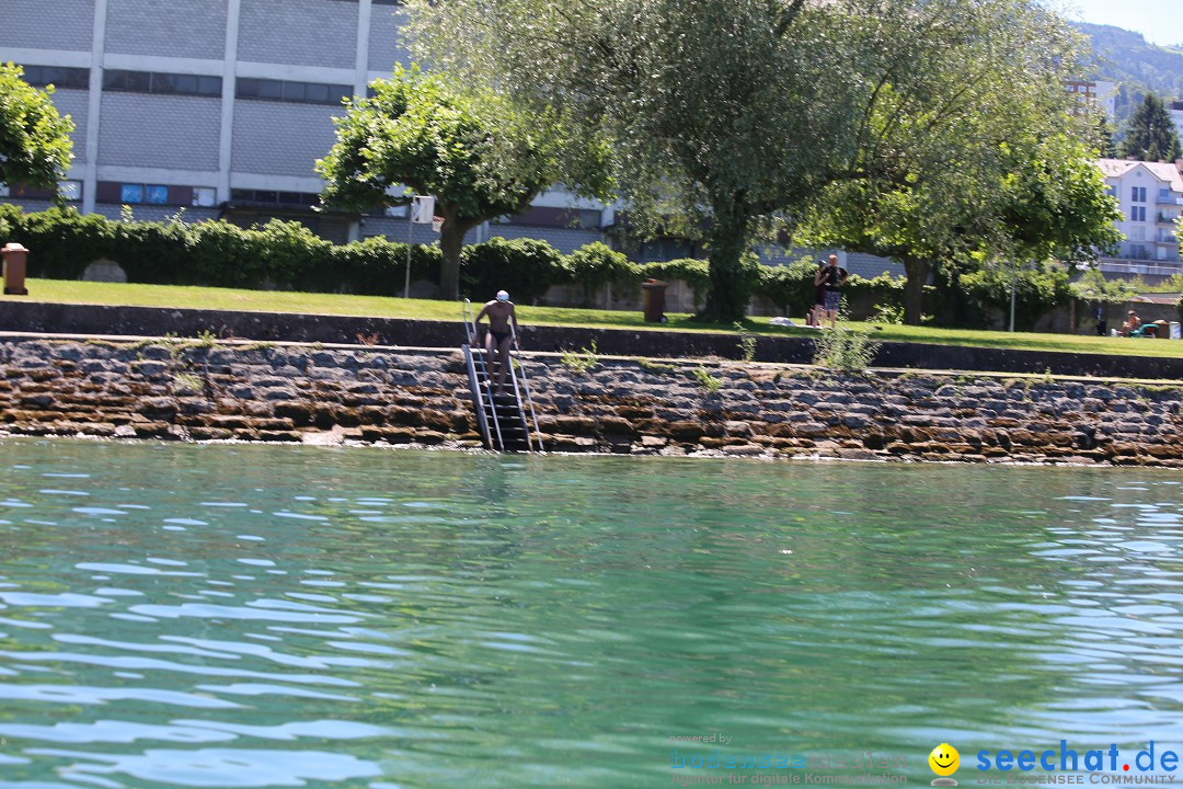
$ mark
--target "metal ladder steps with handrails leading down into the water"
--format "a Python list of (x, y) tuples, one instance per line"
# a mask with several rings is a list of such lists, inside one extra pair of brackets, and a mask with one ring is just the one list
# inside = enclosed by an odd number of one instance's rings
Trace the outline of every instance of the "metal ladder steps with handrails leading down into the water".
[[(513, 350), (517, 335), (510, 322), (510, 366), (506, 382), (510, 384), (505, 394), (493, 394), (490, 380), (492, 360), (484, 347), (477, 344), (479, 334), (473, 319), (472, 303), (464, 299), (464, 332), (466, 342), (460, 345), (464, 351), (464, 363), (468, 370), (468, 390), (472, 405), (477, 410), (477, 425), (485, 446), (494, 452), (542, 452), (542, 434), (538, 432), (538, 418), (534, 410), (534, 399), (530, 396), (530, 383), (526, 380), (525, 366), (521, 355)], [(525, 407), (522, 395), (525, 394)], [(529, 420), (526, 419), (529, 409)], [(534, 422), (534, 436), (530, 435), (530, 422)]]

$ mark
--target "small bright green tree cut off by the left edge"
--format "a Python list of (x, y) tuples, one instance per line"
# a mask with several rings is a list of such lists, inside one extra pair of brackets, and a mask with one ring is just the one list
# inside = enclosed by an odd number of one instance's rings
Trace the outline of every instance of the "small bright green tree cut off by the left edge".
[(73, 121), (53, 106), (53, 85), (37, 90), (24, 73), (0, 64), (0, 183), (57, 190), (73, 157)]

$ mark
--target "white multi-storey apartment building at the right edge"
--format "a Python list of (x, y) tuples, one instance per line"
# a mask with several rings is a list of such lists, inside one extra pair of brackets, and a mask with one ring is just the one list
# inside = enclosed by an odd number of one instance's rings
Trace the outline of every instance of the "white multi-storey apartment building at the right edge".
[(1183, 211), (1183, 176), (1175, 163), (1103, 159), (1099, 162), (1110, 194), (1117, 198), (1125, 235), (1119, 253), (1101, 258), (1103, 271), (1172, 274), (1179, 263), (1178, 218)]

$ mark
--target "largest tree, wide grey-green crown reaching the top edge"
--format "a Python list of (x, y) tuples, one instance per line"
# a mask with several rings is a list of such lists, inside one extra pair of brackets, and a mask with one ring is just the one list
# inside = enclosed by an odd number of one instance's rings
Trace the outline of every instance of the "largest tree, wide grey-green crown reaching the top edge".
[(577, 143), (565, 162), (582, 161), (588, 140), (612, 140), (634, 220), (705, 228), (705, 312), (724, 321), (744, 312), (744, 253), (774, 220), (800, 216), (832, 183), (898, 182), (912, 149), (963, 134), (965, 112), (1010, 112), (1009, 102), (982, 105), (993, 85), (1062, 95), (1058, 79), (1074, 62), (1061, 26), (1034, 0), (408, 8), (414, 46), (432, 63), (557, 112)]

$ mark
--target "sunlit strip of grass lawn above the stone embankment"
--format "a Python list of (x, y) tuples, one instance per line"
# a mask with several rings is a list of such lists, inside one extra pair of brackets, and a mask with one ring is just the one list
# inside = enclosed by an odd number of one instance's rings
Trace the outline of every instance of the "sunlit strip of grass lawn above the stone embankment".
[[(360, 315), (425, 321), (459, 321), (460, 306), (454, 302), (403, 299), (388, 296), (350, 296), (344, 293), (297, 293), (284, 291), (235, 290), (177, 285), (137, 285), (84, 283), (66, 279), (30, 279), (30, 296), (0, 296), (6, 300), (57, 302), (64, 304), (110, 304), (129, 306), (170, 306), (207, 310), (251, 310), (261, 312), (316, 312), (323, 315)], [(477, 305), (479, 308), (479, 305)], [(552, 306), (519, 306), (522, 323), (541, 325), (577, 325), (600, 328), (657, 329), (645, 323), (641, 313), (610, 310), (576, 310)], [(802, 318), (795, 318), (803, 323)], [(925, 342), (942, 345), (978, 345), (1027, 350), (1072, 351), (1078, 354), (1116, 354), (1126, 356), (1183, 357), (1183, 342), (1129, 339), (1094, 335), (1052, 335), (972, 329), (936, 329), (884, 324), (851, 325), (867, 328), (877, 339)], [(749, 331), (768, 335), (812, 336), (816, 330), (769, 325), (767, 317), (746, 322)], [(691, 321), (689, 315), (671, 315), (661, 329), (675, 331), (735, 331), (730, 325), (712, 325)]]

